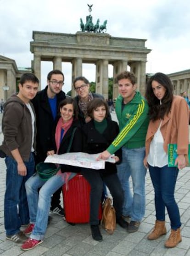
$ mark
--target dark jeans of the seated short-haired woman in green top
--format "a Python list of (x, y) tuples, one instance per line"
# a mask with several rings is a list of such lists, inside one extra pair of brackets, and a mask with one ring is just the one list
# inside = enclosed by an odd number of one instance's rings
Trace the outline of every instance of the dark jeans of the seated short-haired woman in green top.
[(88, 180), (90, 191), (90, 225), (98, 225), (99, 204), (103, 192), (103, 182), (108, 187), (112, 197), (113, 206), (116, 210), (116, 218), (122, 216), (124, 194), (117, 173), (101, 176), (101, 171), (83, 168), (81, 174)]

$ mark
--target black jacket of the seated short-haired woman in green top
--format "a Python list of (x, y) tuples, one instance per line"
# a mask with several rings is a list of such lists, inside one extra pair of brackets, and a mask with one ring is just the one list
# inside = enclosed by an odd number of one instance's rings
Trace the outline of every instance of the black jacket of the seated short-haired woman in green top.
[[(89, 154), (97, 154), (106, 150), (112, 141), (117, 137), (119, 127), (117, 122), (107, 118), (107, 128), (101, 134), (95, 129), (94, 120), (83, 126), (83, 152)], [(119, 149), (115, 152), (122, 161), (122, 150)], [(105, 169), (99, 170), (102, 175), (117, 173), (117, 167), (113, 163), (106, 162)]]

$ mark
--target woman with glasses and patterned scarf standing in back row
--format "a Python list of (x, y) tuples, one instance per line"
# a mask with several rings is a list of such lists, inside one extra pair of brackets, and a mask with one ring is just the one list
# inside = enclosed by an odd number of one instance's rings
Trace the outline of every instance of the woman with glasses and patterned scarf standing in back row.
[(85, 77), (76, 77), (73, 86), (78, 94), (74, 99), (77, 101), (79, 108), (79, 120), (84, 125), (91, 120), (87, 114), (87, 106), (89, 102), (94, 98), (103, 99), (104, 97), (98, 93), (91, 93), (89, 91), (89, 81)]

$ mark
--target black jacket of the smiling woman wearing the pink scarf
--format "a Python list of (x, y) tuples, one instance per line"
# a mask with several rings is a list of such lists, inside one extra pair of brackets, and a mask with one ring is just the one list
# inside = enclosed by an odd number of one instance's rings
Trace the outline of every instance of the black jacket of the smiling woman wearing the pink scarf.
[[(57, 120), (56, 120), (56, 125), (57, 125), (58, 120), (59, 120), (59, 118), (57, 118)], [(54, 149), (55, 152), (57, 151), (56, 142), (55, 142), (56, 125), (54, 126), (53, 133), (52, 133), (53, 148), (49, 149), (49, 150)], [(71, 144), (71, 148), (70, 148), (69, 152), (81, 152), (82, 151), (82, 131), (81, 131), (81, 128), (79, 125), (79, 121), (73, 121), (73, 124), (71, 125), (71, 127), (68, 129), (68, 131), (66, 132), (66, 134), (64, 135), (64, 137), (61, 140), (60, 147), (57, 152), (58, 155), (68, 153), (67, 149), (69, 147), (69, 143), (72, 138), (73, 129), (75, 127), (77, 129), (74, 132), (73, 142)], [(66, 172), (79, 173), (80, 167), (70, 166), (70, 165), (61, 165), (61, 172), (62, 173), (66, 173)]]

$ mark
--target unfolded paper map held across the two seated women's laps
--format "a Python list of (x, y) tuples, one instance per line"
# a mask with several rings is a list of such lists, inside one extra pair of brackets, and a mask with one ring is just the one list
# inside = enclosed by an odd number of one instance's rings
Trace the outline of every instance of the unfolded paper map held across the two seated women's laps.
[[(72, 166), (90, 168), (90, 169), (105, 169), (105, 160), (96, 161), (100, 154), (87, 154), (83, 152), (72, 152), (61, 155), (48, 155), (45, 163), (67, 164)], [(114, 155), (111, 155), (107, 162), (115, 163)]]

